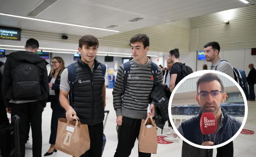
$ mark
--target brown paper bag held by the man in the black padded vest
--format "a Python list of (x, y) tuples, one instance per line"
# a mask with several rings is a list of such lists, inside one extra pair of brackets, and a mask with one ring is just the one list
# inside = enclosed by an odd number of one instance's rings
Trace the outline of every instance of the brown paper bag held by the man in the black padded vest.
[(55, 148), (74, 157), (90, 149), (89, 130), (86, 124), (59, 118)]

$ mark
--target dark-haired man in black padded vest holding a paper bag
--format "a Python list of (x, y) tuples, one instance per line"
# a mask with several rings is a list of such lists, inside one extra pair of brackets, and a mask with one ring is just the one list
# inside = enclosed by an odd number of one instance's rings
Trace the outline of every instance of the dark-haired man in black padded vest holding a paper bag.
[[(73, 63), (73, 89), (69, 85), (71, 80), (68, 77), (68, 69), (64, 69), (60, 77), (59, 102), (66, 110), (66, 118), (73, 120), (77, 116), (82, 124), (88, 125), (90, 149), (81, 157), (101, 157), (103, 146), (106, 87), (103, 75), (105, 67), (95, 59), (98, 45), (98, 39), (92, 35), (80, 38), (78, 52), (81, 57), (78, 58), (78, 62)], [(68, 100), (69, 92), (73, 93), (72, 106)]]

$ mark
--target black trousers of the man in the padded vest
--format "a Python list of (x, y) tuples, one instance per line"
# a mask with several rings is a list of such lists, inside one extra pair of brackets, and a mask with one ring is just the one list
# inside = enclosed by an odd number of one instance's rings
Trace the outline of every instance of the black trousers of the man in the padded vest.
[(95, 125), (88, 125), (91, 140), (90, 149), (80, 157), (101, 157), (103, 146), (103, 122)]

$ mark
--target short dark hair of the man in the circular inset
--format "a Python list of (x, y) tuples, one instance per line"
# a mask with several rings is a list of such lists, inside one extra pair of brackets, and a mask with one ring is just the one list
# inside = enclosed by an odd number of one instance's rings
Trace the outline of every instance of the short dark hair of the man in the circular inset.
[(197, 93), (198, 93), (198, 87), (201, 82), (212, 82), (214, 80), (217, 80), (221, 86), (222, 92), (224, 92), (224, 86), (222, 83), (222, 80), (215, 74), (215, 73), (205, 73), (203, 74), (198, 80), (197, 80)]

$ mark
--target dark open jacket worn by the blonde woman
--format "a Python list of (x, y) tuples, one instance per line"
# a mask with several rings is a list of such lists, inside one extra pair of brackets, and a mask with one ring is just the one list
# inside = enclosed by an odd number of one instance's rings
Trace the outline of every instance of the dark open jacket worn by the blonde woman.
[[(48, 83), (50, 83), (51, 80), (52, 80), (52, 77), (49, 74)], [(57, 76), (56, 76), (55, 82), (52, 86), (52, 90), (55, 91), (55, 98), (56, 98), (56, 102), (57, 102), (58, 106), (52, 106), (52, 104), (51, 104), (51, 107), (57, 107), (60, 110), (64, 111), (64, 108), (59, 104), (59, 84), (60, 84), (60, 76), (59, 76), (59, 73), (58, 73)], [(48, 96), (48, 100), (49, 100), (49, 96)], [(48, 101), (48, 102), (50, 102), (50, 101)]]

